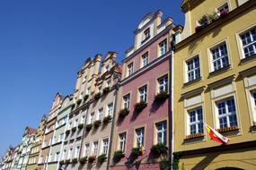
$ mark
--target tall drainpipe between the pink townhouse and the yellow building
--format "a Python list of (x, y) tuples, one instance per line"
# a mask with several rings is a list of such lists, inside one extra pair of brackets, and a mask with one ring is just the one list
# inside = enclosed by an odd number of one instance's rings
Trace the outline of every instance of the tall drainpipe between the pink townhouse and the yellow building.
[(174, 72), (173, 72), (173, 53), (175, 50), (175, 37), (172, 36), (172, 42), (171, 42), (171, 55), (169, 58), (169, 72), (170, 72), (170, 81), (169, 81), (169, 91), (170, 91), (170, 97), (169, 97), (169, 105), (168, 105), (168, 119), (169, 119), (169, 159), (170, 159), (170, 169), (172, 170), (172, 160), (173, 160), (173, 147), (174, 147), (174, 118), (173, 118), (173, 77), (174, 77)]

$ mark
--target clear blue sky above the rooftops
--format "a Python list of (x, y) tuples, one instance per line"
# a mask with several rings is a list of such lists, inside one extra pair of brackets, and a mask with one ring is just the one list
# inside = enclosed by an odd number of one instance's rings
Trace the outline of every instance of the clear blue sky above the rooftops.
[(57, 92), (75, 88), (87, 57), (119, 53), (134, 43), (146, 13), (163, 11), (183, 25), (181, 0), (0, 1), (0, 157), (37, 128)]

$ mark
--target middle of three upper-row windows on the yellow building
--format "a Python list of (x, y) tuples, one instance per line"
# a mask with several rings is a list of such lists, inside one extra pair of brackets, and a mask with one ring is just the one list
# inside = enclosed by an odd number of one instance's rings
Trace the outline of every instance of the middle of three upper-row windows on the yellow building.
[(217, 71), (229, 65), (226, 45), (221, 44), (211, 50), (213, 70)]

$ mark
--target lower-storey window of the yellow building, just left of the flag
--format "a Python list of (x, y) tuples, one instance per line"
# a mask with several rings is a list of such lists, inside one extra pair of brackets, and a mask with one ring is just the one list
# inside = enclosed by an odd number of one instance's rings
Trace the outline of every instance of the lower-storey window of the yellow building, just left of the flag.
[(190, 134), (204, 132), (202, 107), (191, 110), (189, 112), (189, 119)]

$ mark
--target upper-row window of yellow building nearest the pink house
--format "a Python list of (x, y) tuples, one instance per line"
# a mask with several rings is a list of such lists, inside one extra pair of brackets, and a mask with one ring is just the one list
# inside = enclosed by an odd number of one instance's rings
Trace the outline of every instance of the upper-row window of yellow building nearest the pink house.
[(188, 66), (188, 81), (194, 81), (200, 78), (199, 56), (190, 59), (187, 62)]

